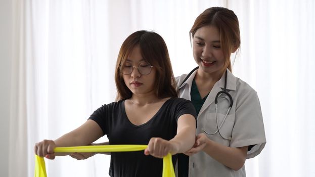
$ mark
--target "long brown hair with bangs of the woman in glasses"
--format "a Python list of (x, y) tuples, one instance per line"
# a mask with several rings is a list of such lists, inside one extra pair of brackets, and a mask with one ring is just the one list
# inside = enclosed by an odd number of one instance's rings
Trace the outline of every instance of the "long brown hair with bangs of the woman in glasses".
[(133, 48), (138, 45), (140, 46), (142, 57), (156, 69), (154, 85), (156, 96), (160, 99), (178, 97), (177, 85), (164, 39), (153, 31), (141, 30), (130, 34), (124, 40), (119, 50), (115, 70), (116, 100), (125, 100), (132, 96), (132, 92), (123, 80), (120, 66), (124, 64)]

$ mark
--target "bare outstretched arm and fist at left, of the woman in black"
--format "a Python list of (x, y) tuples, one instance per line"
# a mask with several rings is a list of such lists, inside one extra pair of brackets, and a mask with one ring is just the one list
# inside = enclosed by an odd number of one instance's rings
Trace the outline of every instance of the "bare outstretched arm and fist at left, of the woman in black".
[(35, 144), (34, 151), (38, 156), (54, 159), (55, 156), (68, 155), (68, 153), (55, 153), (55, 147), (89, 145), (102, 137), (103, 131), (94, 120), (87, 120), (80, 127), (68, 132), (55, 141), (43, 140)]

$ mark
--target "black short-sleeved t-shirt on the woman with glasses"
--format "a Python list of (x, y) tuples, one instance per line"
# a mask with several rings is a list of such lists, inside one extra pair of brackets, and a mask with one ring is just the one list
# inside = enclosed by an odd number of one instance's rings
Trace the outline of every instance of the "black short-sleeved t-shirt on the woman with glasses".
[[(181, 98), (170, 98), (146, 123), (134, 125), (127, 118), (124, 100), (103, 105), (89, 117), (96, 121), (107, 135), (111, 145), (147, 145), (152, 137), (170, 140), (176, 135), (177, 119), (196, 110), (192, 103)], [(176, 155), (173, 156), (173, 165)], [(144, 151), (112, 152), (109, 174), (111, 176), (162, 176), (163, 160)]]

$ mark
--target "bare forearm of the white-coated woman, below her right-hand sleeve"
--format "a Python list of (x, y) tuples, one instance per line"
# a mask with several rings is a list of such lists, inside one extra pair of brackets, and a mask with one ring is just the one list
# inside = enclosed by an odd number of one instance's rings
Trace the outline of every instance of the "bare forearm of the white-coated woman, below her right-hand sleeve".
[(245, 163), (247, 148), (231, 148), (208, 139), (203, 151), (223, 165), (239, 170)]

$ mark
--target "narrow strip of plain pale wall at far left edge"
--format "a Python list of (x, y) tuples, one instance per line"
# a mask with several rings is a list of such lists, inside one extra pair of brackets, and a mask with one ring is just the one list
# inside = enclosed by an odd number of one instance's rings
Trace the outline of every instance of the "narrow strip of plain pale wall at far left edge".
[(12, 2), (0, 0), (0, 176), (8, 176)]

